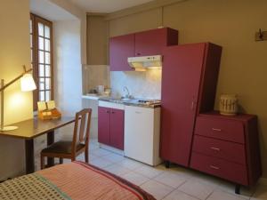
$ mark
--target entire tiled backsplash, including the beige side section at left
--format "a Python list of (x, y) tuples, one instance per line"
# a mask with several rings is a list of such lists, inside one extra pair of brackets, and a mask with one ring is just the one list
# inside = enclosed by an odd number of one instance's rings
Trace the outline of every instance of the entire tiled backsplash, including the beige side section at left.
[(160, 100), (161, 69), (147, 71), (109, 71), (109, 66), (87, 65), (83, 68), (84, 93), (88, 93), (97, 85), (111, 88), (111, 96), (125, 96), (126, 86), (134, 98)]

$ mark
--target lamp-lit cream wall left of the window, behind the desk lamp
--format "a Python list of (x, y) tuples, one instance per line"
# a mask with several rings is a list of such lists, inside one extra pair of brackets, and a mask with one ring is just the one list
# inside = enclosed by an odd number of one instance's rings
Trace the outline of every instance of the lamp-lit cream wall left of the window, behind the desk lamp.
[[(1, 1), (0, 6), (0, 78), (10, 81), (30, 66), (28, 0)], [(20, 82), (5, 92), (5, 123), (32, 117), (32, 93), (20, 92)], [(12, 177), (24, 169), (24, 142), (0, 137), (0, 179)]]

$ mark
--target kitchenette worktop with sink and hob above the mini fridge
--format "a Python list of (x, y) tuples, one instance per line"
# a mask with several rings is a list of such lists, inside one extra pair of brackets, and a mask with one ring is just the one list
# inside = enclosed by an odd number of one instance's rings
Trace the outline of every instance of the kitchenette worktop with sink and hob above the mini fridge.
[(125, 106), (143, 107), (143, 108), (158, 108), (160, 107), (160, 100), (154, 100), (152, 103), (142, 102), (140, 99), (116, 99), (116, 98), (100, 98), (99, 100), (108, 101), (117, 104), (123, 104)]

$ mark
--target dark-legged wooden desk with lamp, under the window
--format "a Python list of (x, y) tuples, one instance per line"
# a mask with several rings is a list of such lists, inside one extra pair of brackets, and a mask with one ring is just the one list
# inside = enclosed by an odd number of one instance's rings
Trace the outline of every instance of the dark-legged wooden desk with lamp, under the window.
[[(54, 142), (54, 130), (61, 128), (64, 125), (75, 122), (74, 117), (64, 117), (53, 120), (40, 120), (38, 118), (28, 119), (16, 124), (19, 129), (11, 132), (1, 132), (0, 136), (7, 136), (12, 138), (20, 138), (25, 140), (25, 156), (26, 156), (26, 173), (35, 172), (34, 162), (34, 138), (47, 134), (47, 146)], [(48, 158), (48, 166), (53, 165), (53, 158)]]

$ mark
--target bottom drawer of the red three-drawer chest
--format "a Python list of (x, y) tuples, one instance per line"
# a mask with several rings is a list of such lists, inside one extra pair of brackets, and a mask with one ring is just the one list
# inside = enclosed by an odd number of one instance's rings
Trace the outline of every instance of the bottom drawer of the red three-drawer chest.
[(192, 153), (190, 166), (200, 172), (230, 180), (247, 186), (247, 168), (241, 164), (234, 164), (223, 159)]

